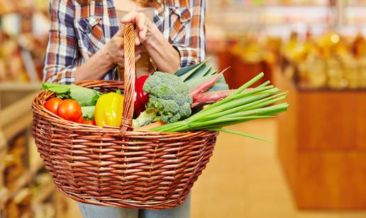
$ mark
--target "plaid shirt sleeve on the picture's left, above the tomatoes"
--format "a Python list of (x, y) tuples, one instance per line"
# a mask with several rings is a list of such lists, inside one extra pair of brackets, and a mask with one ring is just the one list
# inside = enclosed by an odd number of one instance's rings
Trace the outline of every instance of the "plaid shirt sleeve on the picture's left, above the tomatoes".
[(50, 1), (51, 26), (45, 54), (43, 81), (74, 83), (77, 67), (77, 38), (72, 0)]

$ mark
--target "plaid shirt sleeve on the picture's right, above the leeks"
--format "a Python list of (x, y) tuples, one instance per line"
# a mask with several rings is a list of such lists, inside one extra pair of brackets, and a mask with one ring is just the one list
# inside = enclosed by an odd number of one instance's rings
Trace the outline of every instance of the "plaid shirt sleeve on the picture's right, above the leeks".
[(206, 31), (204, 17), (206, 1), (194, 1), (190, 29), (183, 44), (174, 44), (180, 55), (180, 66), (187, 67), (205, 59), (206, 56)]

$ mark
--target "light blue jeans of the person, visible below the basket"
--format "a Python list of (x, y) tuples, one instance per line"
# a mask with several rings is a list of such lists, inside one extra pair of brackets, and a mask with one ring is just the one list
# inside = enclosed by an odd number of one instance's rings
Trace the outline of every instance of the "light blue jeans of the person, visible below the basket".
[(189, 218), (191, 197), (188, 195), (183, 205), (171, 209), (128, 209), (103, 207), (77, 203), (84, 218)]

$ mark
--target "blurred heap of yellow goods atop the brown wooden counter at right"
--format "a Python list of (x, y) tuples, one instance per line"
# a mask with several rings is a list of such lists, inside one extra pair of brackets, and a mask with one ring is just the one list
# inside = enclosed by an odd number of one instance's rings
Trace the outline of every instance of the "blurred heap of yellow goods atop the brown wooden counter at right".
[(304, 89), (366, 87), (366, 43), (363, 36), (336, 33), (300, 40), (292, 37), (282, 50), (284, 72)]

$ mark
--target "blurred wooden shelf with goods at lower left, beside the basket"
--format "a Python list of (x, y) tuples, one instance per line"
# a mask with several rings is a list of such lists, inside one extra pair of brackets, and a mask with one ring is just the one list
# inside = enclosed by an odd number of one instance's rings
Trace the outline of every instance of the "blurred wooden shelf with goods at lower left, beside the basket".
[(0, 84), (0, 217), (67, 217), (67, 198), (55, 197), (30, 133), (30, 104), (39, 88), (39, 83)]

